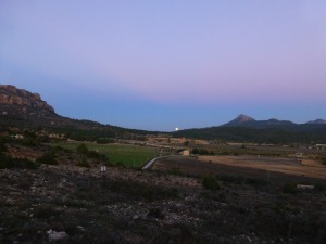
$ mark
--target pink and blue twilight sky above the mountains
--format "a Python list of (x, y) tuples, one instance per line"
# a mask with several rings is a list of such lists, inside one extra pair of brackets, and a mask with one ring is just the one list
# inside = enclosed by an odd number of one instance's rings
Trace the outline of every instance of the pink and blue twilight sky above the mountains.
[(0, 84), (147, 130), (326, 119), (326, 1), (0, 0)]

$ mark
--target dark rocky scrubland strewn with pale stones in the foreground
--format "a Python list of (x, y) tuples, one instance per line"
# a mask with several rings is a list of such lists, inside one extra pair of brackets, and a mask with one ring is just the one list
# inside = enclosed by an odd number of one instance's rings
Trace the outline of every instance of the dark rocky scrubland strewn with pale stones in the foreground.
[(323, 189), (225, 181), (211, 191), (198, 178), (117, 167), (42, 165), (0, 179), (0, 243), (326, 243)]

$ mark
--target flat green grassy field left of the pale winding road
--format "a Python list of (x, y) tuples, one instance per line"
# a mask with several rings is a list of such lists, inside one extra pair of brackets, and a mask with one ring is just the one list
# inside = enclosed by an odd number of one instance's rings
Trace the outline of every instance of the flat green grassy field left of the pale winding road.
[(141, 167), (149, 159), (158, 156), (158, 149), (129, 144), (96, 144), (82, 142), (51, 143), (51, 146), (62, 146), (76, 151), (77, 146), (85, 144), (88, 150), (106, 155), (112, 164), (123, 164), (127, 167)]

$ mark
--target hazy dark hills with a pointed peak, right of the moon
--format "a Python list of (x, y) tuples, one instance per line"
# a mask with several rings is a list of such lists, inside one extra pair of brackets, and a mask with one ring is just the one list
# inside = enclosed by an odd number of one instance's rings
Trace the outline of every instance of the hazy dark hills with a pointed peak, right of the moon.
[(326, 143), (325, 124), (296, 124), (275, 118), (255, 120), (239, 115), (222, 126), (174, 132), (176, 137), (269, 143)]

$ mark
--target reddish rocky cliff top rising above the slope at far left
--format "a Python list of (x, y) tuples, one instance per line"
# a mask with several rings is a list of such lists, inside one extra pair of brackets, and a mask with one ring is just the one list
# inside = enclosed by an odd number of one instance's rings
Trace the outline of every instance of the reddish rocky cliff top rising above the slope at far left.
[(53, 107), (42, 101), (38, 93), (17, 89), (11, 85), (0, 85), (0, 105), (17, 105), (54, 113)]

